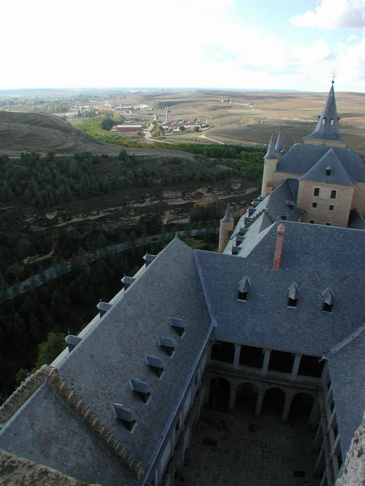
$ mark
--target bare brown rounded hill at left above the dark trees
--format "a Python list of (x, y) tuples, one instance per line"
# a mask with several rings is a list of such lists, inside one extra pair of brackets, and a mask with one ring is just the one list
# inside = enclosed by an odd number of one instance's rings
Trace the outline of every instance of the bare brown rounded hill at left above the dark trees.
[(73, 154), (89, 150), (118, 153), (120, 147), (105, 144), (79, 132), (65, 119), (48, 113), (0, 111), (0, 153), (18, 155), (35, 150)]

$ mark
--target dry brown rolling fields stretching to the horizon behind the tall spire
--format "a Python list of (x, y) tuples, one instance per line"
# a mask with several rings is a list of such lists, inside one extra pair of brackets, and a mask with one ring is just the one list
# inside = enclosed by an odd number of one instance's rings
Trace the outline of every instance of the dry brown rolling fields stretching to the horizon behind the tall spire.
[[(172, 120), (207, 120), (214, 126), (205, 132), (211, 139), (263, 146), (269, 142), (272, 130), (277, 133), (280, 127), (285, 145), (301, 142), (304, 135), (313, 131), (326, 97), (327, 93), (196, 90), (144, 95), (143, 102), (153, 106), (154, 113), (160, 116), (163, 116), (163, 106), (170, 106)], [(227, 98), (230, 103), (222, 102)], [(365, 93), (339, 92), (336, 101), (342, 137), (348, 147), (365, 155)], [(164, 140), (207, 142), (202, 134), (191, 133), (168, 136)]]

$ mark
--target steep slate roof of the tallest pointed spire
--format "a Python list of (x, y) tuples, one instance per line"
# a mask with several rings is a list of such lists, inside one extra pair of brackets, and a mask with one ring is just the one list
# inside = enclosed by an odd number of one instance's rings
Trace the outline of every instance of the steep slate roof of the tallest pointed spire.
[[(330, 93), (327, 96), (323, 111), (318, 118), (316, 128), (310, 135), (304, 138), (344, 142), (339, 133), (339, 119), (340, 118), (337, 115), (335, 91), (332, 83)], [(331, 125), (331, 123), (333, 123), (333, 125)]]

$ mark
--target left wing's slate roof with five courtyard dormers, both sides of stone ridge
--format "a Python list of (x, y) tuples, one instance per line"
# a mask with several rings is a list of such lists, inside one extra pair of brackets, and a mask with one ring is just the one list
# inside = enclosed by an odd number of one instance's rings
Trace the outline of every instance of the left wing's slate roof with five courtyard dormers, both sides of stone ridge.
[[(186, 320), (189, 327), (184, 339), (172, 329), (169, 316)], [(91, 412), (142, 463), (144, 471), (149, 468), (210, 325), (194, 251), (175, 238), (58, 368)], [(175, 339), (177, 345), (171, 357), (159, 346), (159, 334)], [(147, 365), (145, 354), (162, 358), (161, 379)], [(130, 377), (150, 385), (147, 403), (131, 390)], [(0, 447), (87, 482), (103, 486), (134, 484), (135, 480), (129, 479), (112, 459), (105, 459), (104, 466), (98, 465), (94, 455), (102, 452), (101, 446), (95, 445), (92, 434), (82, 424), (71, 420), (58, 401), (44, 401), (42, 393), (35, 393), (17, 416), (19, 419), (0, 432)], [(134, 410), (136, 427), (132, 434), (115, 419), (113, 403)], [(58, 414), (58, 410), (64, 412)], [(51, 422), (44, 417), (51, 417)], [(81, 458), (84, 444), (86, 457)], [(29, 452), (30, 445), (36, 455)], [(53, 452), (52, 460), (49, 451)]]

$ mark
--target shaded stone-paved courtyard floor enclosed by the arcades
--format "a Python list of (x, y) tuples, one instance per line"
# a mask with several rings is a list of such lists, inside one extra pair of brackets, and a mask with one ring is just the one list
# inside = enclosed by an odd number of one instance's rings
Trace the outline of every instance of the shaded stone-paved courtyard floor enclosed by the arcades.
[(313, 436), (304, 423), (281, 424), (274, 414), (256, 419), (242, 411), (203, 411), (175, 484), (318, 486)]

